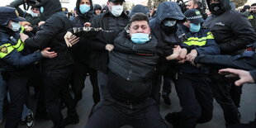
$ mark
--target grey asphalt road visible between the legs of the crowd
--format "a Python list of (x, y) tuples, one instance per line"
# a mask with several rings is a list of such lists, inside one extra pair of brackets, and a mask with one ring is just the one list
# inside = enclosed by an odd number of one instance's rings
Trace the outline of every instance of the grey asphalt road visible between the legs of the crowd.
[[(85, 88), (83, 89), (83, 99), (78, 102), (77, 111), (80, 118), (79, 124), (73, 126), (66, 126), (67, 128), (83, 128), (88, 120), (88, 115), (91, 111), (93, 101), (92, 101), (92, 86), (88, 78), (85, 81)], [(179, 100), (173, 86), (173, 92), (171, 93), (172, 105), (167, 106), (164, 104), (163, 99), (161, 99), (160, 113), (164, 117), (168, 112), (180, 111)], [(33, 103), (35, 106), (36, 102)], [(239, 111), (241, 113), (241, 122), (247, 123), (254, 120), (254, 113), (256, 112), (256, 85), (255, 84), (245, 84), (243, 88), (243, 94), (241, 98), (241, 107)], [(35, 107), (32, 108), (33, 110)], [(66, 110), (63, 111), (64, 116)], [(99, 121), (100, 123), (100, 121)], [(50, 128), (52, 126), (51, 121), (36, 121), (34, 128)], [(171, 125), (168, 125), (172, 128)], [(26, 126), (20, 126), (21, 128), (26, 128)], [(0, 125), (0, 128), (3, 128)], [(122, 126), (122, 128), (130, 128), (130, 126)], [(225, 121), (223, 117), (223, 111), (221, 110), (218, 103), (214, 102), (213, 118), (211, 121), (197, 125), (197, 128), (225, 128)]]

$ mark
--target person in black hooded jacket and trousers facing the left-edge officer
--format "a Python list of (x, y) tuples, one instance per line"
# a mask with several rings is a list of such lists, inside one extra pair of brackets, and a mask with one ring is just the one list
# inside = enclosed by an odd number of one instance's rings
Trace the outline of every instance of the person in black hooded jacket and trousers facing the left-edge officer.
[(42, 72), (45, 89), (45, 107), (49, 111), (55, 127), (64, 127), (64, 117), (61, 113), (59, 97), (68, 108), (68, 114), (77, 115), (73, 97), (69, 93), (69, 78), (73, 71), (73, 59), (64, 43), (64, 33), (71, 28), (71, 22), (64, 12), (61, 12), (59, 0), (41, 0), (40, 15), (45, 24), (41, 25), (36, 36), (28, 38), (21, 35), (21, 40), (31, 48), (44, 49), (51, 47), (58, 53), (55, 59), (42, 60)]

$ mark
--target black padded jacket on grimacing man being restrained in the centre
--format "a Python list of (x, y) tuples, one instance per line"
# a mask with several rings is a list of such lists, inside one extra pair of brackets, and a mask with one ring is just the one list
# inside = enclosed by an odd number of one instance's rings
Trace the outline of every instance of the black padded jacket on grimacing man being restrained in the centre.
[[(112, 97), (121, 100), (138, 100), (149, 97), (151, 80), (158, 63), (159, 44), (155, 36), (145, 44), (135, 44), (126, 31), (83, 31), (73, 28), (76, 36), (96, 37), (113, 42), (115, 49), (109, 54), (108, 68), (111, 79), (108, 90)], [(114, 73), (115, 75), (111, 75)], [(140, 83), (140, 84), (139, 84)]]

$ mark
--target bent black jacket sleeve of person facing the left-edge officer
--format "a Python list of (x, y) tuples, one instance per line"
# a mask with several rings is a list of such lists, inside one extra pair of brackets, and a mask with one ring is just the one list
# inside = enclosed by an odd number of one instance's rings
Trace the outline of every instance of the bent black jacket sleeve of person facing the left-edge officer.
[(42, 50), (47, 47), (48, 43), (50, 43), (57, 34), (59, 34), (59, 31), (62, 30), (63, 26), (63, 22), (59, 17), (52, 17), (45, 21), (45, 24), (40, 26), (40, 31), (36, 32), (36, 36), (28, 38), (24, 42), (26, 46), (36, 50)]

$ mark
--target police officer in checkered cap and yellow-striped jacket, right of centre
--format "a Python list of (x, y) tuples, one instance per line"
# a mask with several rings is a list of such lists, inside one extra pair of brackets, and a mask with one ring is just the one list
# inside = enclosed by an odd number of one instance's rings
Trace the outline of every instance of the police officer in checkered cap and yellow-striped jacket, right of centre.
[(197, 68), (191, 62), (197, 55), (218, 55), (220, 49), (211, 32), (201, 27), (204, 21), (197, 9), (189, 9), (184, 13), (187, 21), (183, 23), (183, 31), (188, 45), (186, 62), (178, 66), (178, 78), (175, 88), (180, 100), (182, 111), (173, 112), (166, 116), (169, 122), (177, 128), (196, 127), (197, 123), (211, 121), (213, 110), (213, 92), (209, 70)]

